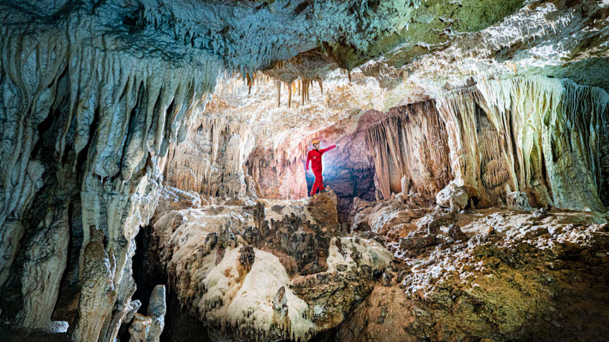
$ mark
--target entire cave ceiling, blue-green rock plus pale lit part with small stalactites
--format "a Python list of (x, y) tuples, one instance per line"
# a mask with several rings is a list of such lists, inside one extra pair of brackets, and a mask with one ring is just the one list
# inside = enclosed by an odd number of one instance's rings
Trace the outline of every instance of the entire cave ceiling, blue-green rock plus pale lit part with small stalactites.
[(5, 35), (55, 41), (83, 71), (97, 58), (114, 76), (193, 74), (213, 89), (205, 113), (259, 123), (256, 145), (273, 148), (488, 79), (609, 88), (607, 0), (3, 0), (0, 13)]

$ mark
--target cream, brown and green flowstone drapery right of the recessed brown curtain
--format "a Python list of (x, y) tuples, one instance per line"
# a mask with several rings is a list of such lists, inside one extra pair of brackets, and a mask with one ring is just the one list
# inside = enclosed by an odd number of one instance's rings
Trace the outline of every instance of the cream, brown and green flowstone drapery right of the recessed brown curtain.
[(456, 178), (483, 205), (512, 190), (540, 206), (602, 211), (607, 169), (600, 160), (607, 156), (599, 145), (607, 141), (608, 99), (603, 89), (546, 77), (449, 92), (438, 110), (453, 128)]

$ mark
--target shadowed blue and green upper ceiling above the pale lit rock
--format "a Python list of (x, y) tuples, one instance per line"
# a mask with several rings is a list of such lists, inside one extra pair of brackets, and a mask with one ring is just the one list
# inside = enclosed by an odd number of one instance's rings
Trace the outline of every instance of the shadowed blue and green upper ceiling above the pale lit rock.
[(184, 63), (217, 58), (244, 77), (277, 61), (306, 59), (308, 51), (324, 55), (326, 65), (312, 65), (320, 69), (351, 70), (370, 60), (390, 68), (422, 68), (430, 60), (457, 68), (463, 60), (478, 59), (583, 79), (585, 65), (607, 64), (604, 0), (2, 1), (1, 6), (5, 24), (36, 30), (86, 17), (88, 27), (79, 30), (104, 36), (108, 45), (102, 49)]

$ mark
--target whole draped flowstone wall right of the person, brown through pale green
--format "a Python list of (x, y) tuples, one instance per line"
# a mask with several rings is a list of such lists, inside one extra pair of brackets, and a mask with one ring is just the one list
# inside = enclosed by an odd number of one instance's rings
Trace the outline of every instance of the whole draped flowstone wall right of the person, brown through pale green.
[(367, 131), (383, 198), (435, 197), (454, 178), (478, 206), (527, 194), (534, 206), (604, 210), (609, 96), (569, 79), (481, 79), (394, 108)]

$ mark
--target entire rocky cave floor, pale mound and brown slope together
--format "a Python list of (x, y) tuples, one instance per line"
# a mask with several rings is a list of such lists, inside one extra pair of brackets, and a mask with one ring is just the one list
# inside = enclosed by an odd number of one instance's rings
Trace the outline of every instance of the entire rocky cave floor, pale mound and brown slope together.
[(451, 211), (393, 197), (356, 201), (347, 226), (333, 192), (258, 202), (185, 203), (155, 217), (158, 262), (209, 336), (234, 338), (223, 324), (264, 340), (608, 333), (607, 213)]

